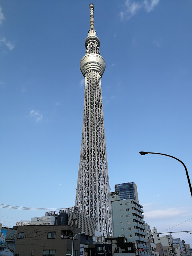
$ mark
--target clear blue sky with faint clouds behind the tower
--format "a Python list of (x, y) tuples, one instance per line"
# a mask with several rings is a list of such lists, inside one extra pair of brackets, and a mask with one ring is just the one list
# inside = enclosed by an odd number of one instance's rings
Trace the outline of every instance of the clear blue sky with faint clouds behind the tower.
[[(0, 2), (1, 203), (74, 206), (90, 1)], [(159, 232), (192, 218), (192, 1), (94, 2), (110, 188), (135, 182)], [(1, 208), (0, 222), (45, 211)], [(5, 216), (5, 217), (2, 217)], [(10, 219), (12, 218), (12, 219)], [(16, 219), (16, 220), (14, 220)], [(192, 220), (168, 231), (192, 230)], [(175, 233), (192, 246), (192, 235)]]

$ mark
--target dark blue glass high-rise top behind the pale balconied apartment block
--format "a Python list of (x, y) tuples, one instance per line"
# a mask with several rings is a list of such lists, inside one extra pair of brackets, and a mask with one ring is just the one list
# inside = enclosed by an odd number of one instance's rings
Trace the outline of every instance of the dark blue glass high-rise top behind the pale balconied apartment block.
[(115, 185), (115, 191), (119, 192), (120, 200), (134, 199), (139, 203), (137, 185), (135, 182), (127, 182)]

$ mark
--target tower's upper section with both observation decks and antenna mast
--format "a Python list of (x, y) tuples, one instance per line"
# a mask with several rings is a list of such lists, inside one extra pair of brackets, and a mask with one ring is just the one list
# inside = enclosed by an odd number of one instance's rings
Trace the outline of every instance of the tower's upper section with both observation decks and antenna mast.
[(94, 4), (89, 5), (90, 8), (90, 30), (88, 37), (85, 39), (85, 56), (80, 61), (80, 70), (85, 77), (90, 70), (96, 70), (102, 76), (105, 71), (105, 60), (100, 56), (100, 40), (96, 36), (94, 29)]

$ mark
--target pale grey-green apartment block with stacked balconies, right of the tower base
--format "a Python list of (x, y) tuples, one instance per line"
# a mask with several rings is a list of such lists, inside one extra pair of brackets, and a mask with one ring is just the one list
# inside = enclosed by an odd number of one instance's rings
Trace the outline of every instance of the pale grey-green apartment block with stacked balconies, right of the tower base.
[(118, 192), (111, 192), (111, 205), (114, 237), (123, 236), (128, 242), (135, 242), (142, 250), (141, 255), (149, 255), (142, 205), (133, 199), (119, 200)]

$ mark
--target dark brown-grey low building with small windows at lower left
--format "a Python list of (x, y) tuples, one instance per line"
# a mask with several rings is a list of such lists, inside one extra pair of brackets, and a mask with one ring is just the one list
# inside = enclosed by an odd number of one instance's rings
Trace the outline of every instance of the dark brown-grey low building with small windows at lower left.
[[(75, 234), (80, 228), (75, 227)], [(72, 254), (72, 226), (18, 226), (15, 256)], [(80, 234), (74, 238), (74, 256), (80, 255)]]

